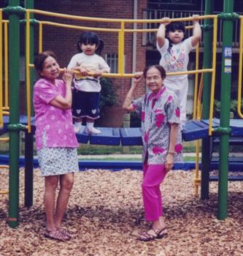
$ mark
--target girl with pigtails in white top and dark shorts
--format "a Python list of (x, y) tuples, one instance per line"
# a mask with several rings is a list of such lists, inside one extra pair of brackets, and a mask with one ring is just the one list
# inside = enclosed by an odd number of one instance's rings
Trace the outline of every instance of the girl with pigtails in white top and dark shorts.
[[(72, 115), (74, 131), (79, 132), (82, 118), (86, 118), (85, 132), (99, 134), (101, 131), (93, 127), (94, 120), (99, 118), (99, 97), (101, 84), (99, 77), (109, 72), (109, 66), (96, 51), (101, 53), (103, 42), (93, 32), (83, 32), (77, 42), (77, 50), (69, 62), (68, 68), (80, 71), (74, 75), (72, 99)], [(88, 75), (93, 72), (93, 76)]]

